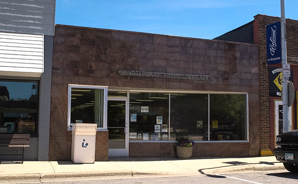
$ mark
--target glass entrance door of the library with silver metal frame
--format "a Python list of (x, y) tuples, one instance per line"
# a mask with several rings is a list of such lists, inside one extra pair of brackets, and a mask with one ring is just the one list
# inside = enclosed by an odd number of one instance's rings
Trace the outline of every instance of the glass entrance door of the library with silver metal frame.
[(128, 156), (127, 99), (108, 99), (109, 156)]

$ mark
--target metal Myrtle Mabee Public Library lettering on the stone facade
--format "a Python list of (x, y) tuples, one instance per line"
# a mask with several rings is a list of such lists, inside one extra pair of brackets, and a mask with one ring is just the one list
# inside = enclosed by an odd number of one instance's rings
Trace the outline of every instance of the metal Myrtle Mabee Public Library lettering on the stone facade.
[(210, 75), (194, 75), (194, 74), (181, 74), (181, 73), (119, 70), (118, 74), (122, 76), (136, 76), (136, 77), (169, 78), (169, 79), (185, 79), (185, 80), (211, 80)]

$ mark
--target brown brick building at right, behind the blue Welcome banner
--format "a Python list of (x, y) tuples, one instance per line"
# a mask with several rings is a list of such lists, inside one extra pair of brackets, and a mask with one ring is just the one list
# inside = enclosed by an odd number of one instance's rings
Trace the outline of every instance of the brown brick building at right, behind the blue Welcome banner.
[[(235, 30), (225, 33), (215, 38), (216, 40), (226, 40), (259, 45), (259, 76), (260, 76), (260, 149), (261, 155), (272, 155), (275, 147), (275, 136), (281, 131), (282, 114), (280, 94), (276, 95), (273, 82), (276, 69), (281, 68), (281, 64), (267, 65), (266, 55), (266, 25), (280, 21), (280, 17), (273, 17), (258, 14), (254, 20)], [(286, 42), (287, 61), (291, 65), (291, 78), (294, 86), (298, 86), (298, 21), (286, 19)], [(281, 73), (279, 71), (279, 73)], [(298, 88), (295, 87), (295, 91)], [(280, 90), (279, 90), (280, 92)], [(297, 98), (289, 108), (289, 120), (292, 129), (297, 129)]]

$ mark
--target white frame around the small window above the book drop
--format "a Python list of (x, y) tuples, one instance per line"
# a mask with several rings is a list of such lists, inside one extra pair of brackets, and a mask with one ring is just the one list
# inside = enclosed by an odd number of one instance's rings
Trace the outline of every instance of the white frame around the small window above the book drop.
[(68, 130), (72, 130), (71, 127), (71, 100), (72, 100), (72, 88), (86, 88), (86, 89), (103, 89), (103, 127), (97, 127), (98, 130), (107, 129), (107, 113), (108, 113), (108, 86), (92, 86), (92, 85), (78, 85), (78, 84), (69, 84), (68, 87)]

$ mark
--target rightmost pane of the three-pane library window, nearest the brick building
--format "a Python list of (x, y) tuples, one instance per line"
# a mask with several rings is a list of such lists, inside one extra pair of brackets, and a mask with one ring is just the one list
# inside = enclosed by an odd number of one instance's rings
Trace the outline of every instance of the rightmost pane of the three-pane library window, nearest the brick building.
[(246, 140), (246, 96), (210, 95), (210, 140)]

